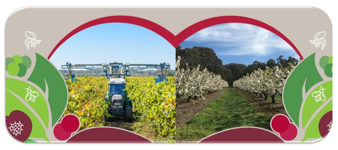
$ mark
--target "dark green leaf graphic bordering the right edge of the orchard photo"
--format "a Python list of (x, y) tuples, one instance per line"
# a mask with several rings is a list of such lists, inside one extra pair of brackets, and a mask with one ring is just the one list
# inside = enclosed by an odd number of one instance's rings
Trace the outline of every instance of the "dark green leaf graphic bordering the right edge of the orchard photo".
[(301, 61), (290, 74), (283, 91), (285, 109), (293, 122), (299, 126), (300, 106), (303, 102), (303, 86), (305, 92), (316, 83), (322, 81), (315, 65), (315, 53)]

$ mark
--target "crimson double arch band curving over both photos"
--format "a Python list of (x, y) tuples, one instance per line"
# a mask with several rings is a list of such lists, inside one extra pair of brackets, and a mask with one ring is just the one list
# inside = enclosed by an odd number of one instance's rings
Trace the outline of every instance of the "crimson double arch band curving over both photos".
[(258, 21), (256, 19), (242, 17), (242, 16), (219, 16), (219, 17), (213, 17), (209, 19), (202, 20), (200, 22), (197, 22), (188, 28), (184, 29), (180, 33), (178, 33), (176, 36), (172, 34), (170, 31), (168, 31), (166, 28), (160, 26), (159, 24), (156, 24), (154, 22), (151, 22), (146, 19), (138, 18), (138, 17), (132, 17), (132, 16), (108, 16), (108, 17), (102, 17), (98, 18), (92, 21), (89, 21), (87, 23), (84, 23), (80, 25), (79, 27), (75, 28), (71, 32), (69, 32), (63, 39), (61, 39), (60, 42), (56, 44), (56, 46), (53, 48), (51, 53), (48, 56), (48, 59), (53, 55), (53, 53), (56, 51), (56, 49), (63, 44), (66, 40), (68, 40), (71, 36), (76, 34), (77, 32), (80, 32), (83, 29), (89, 28), (91, 26), (103, 24), (103, 23), (129, 23), (129, 24), (135, 24), (142, 27), (145, 27), (160, 36), (162, 36), (164, 39), (166, 39), (173, 47), (177, 47), (180, 43), (182, 43), (185, 39), (187, 39), (190, 35), (198, 32), (201, 29), (222, 24), (222, 23), (246, 23), (251, 25), (256, 25), (259, 27), (262, 27), (264, 29), (267, 29), (271, 31), (272, 33), (278, 35), (281, 37), (285, 42), (287, 42), (299, 55), (301, 59), (303, 59), (303, 56), (300, 54), (296, 46), (280, 31), (273, 28), (272, 26)]

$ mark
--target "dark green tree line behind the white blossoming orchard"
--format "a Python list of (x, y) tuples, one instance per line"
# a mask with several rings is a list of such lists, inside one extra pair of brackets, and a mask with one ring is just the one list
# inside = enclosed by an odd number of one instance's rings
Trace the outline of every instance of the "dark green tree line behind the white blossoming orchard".
[(176, 59), (180, 56), (180, 67), (186, 69), (189, 64), (189, 68), (196, 68), (200, 65), (200, 70), (207, 68), (209, 72), (213, 72), (216, 75), (220, 75), (223, 80), (227, 81), (229, 86), (233, 86), (233, 82), (239, 78), (250, 74), (254, 70), (259, 68), (265, 70), (265, 67), (273, 68), (276, 66), (286, 67), (288, 63), (296, 66), (300, 61), (300, 58), (293, 58), (291, 56), (285, 59), (283, 55), (280, 55), (276, 59), (269, 59), (267, 62), (254, 61), (250, 65), (230, 63), (223, 65), (222, 60), (219, 59), (213, 49), (208, 47), (193, 47), (182, 49), (181, 46), (176, 48)]

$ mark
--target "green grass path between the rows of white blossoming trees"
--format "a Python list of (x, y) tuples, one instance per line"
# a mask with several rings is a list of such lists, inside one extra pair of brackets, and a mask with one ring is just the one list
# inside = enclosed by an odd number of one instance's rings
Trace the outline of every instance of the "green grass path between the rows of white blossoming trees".
[(227, 88), (185, 126), (176, 129), (177, 140), (198, 141), (215, 132), (234, 127), (266, 127), (270, 119), (252, 107), (235, 88)]

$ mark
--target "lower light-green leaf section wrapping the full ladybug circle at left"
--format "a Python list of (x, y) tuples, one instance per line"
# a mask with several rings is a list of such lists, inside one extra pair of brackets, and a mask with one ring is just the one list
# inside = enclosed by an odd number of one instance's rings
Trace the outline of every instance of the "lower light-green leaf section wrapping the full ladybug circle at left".
[(32, 121), (32, 132), (30, 133), (29, 138), (43, 138), (48, 141), (46, 132), (37, 117), (35, 117), (35, 115), (19, 99), (6, 90), (6, 116), (9, 116), (14, 110), (24, 112)]

